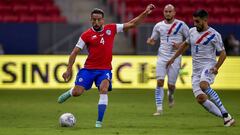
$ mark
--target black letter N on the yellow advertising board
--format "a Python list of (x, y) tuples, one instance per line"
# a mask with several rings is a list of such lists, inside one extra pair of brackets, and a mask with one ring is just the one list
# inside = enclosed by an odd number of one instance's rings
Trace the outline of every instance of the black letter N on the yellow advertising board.
[(48, 64), (45, 65), (45, 74), (43, 74), (37, 64), (32, 64), (32, 83), (35, 82), (35, 73), (37, 73), (44, 83), (48, 82)]

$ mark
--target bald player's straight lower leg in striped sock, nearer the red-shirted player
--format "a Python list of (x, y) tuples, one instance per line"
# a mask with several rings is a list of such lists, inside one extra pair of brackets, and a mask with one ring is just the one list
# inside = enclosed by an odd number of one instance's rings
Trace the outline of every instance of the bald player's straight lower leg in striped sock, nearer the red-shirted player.
[(163, 112), (163, 98), (164, 98), (164, 90), (163, 87), (157, 87), (155, 90), (155, 101), (157, 111), (153, 114), (154, 116), (159, 116)]

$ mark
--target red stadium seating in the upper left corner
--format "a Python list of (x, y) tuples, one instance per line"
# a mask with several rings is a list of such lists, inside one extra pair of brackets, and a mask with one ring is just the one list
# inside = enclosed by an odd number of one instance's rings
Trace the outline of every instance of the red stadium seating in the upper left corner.
[(1, 0), (0, 22), (66, 22), (53, 0)]

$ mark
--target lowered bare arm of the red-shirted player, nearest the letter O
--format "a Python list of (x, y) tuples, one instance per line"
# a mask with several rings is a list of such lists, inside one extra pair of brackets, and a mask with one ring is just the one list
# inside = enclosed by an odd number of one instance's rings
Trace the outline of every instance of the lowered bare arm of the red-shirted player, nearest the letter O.
[(65, 81), (67, 81), (69, 79), (69, 77), (72, 75), (72, 66), (75, 63), (76, 57), (77, 57), (79, 52), (80, 52), (80, 48), (75, 47), (70, 54), (70, 57), (68, 59), (67, 70), (62, 75), (62, 77)]

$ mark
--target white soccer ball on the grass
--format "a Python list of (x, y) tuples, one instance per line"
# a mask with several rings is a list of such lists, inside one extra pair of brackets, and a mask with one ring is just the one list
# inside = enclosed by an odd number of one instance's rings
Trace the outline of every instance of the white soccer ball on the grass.
[(71, 113), (64, 113), (59, 118), (59, 124), (61, 127), (72, 127), (76, 123), (76, 118)]

